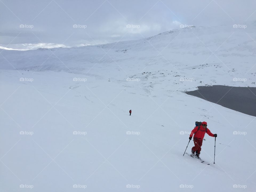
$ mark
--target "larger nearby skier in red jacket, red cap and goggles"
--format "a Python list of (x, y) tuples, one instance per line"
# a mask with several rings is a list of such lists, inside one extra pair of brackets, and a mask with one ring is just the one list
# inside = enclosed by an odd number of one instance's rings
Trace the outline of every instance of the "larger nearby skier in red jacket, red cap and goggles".
[(189, 135), (189, 140), (192, 139), (192, 136), (194, 134), (194, 144), (195, 146), (192, 147), (191, 149), (191, 155), (198, 159), (201, 159), (199, 157), (200, 155), (200, 151), (201, 151), (201, 146), (203, 144), (203, 138), (205, 137), (205, 133), (207, 133), (209, 136), (211, 137), (217, 137), (217, 134), (212, 134), (211, 131), (207, 128), (207, 122), (203, 121), (202, 125), (199, 126), (195, 126), (195, 128), (191, 131), (191, 134)]

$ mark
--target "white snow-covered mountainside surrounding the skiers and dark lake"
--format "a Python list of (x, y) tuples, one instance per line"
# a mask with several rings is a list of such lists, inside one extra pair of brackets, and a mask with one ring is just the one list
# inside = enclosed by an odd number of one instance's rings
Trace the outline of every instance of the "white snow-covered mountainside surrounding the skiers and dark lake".
[[(1, 191), (254, 191), (255, 117), (185, 94), (255, 86), (254, 31), (1, 50)], [(218, 134), (215, 164), (208, 135), (210, 165), (182, 156), (195, 121)]]

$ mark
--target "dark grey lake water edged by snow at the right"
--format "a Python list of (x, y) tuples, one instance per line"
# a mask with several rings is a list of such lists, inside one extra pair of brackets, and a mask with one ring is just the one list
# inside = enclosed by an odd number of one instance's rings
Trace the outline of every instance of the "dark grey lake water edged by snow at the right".
[(186, 93), (256, 117), (256, 87), (199, 86)]

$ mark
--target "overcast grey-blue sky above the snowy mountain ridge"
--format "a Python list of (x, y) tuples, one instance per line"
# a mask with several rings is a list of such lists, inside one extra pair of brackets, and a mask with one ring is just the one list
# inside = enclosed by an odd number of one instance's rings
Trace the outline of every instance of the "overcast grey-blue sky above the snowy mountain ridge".
[(0, 0), (0, 45), (95, 45), (254, 20), (255, 0)]

